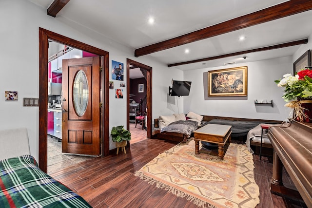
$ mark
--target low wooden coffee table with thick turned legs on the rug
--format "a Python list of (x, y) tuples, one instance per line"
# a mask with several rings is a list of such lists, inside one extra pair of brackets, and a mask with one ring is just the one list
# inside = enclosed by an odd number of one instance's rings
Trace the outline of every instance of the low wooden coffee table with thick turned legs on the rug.
[(231, 143), (232, 126), (220, 124), (207, 124), (194, 131), (195, 154), (199, 154), (199, 140), (218, 145), (218, 158), (223, 160), (224, 145)]

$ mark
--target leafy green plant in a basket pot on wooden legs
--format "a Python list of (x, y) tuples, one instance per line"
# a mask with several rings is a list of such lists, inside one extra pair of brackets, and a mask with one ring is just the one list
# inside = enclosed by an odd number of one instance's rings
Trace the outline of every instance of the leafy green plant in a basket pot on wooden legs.
[(131, 140), (131, 133), (124, 129), (123, 126), (114, 126), (111, 135), (117, 147), (117, 154), (119, 147), (123, 148), (123, 151), (126, 153), (125, 146), (127, 145), (127, 141)]

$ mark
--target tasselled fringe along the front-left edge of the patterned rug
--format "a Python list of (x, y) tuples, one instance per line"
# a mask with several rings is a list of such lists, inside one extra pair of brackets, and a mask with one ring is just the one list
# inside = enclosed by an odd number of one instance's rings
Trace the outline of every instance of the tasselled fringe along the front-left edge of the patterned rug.
[(154, 178), (151, 178), (149, 176), (146, 176), (142, 171), (139, 171), (137, 170), (135, 172), (135, 175), (138, 176), (140, 179), (148, 182), (149, 184), (151, 185), (154, 185), (156, 183), (156, 188), (158, 189), (165, 189), (173, 194), (175, 194), (176, 196), (178, 197), (186, 197), (187, 200), (193, 202), (195, 205), (199, 206), (199, 207), (203, 207), (203, 208), (216, 208), (214, 205), (208, 203), (208, 202), (205, 202), (201, 199), (198, 199), (190, 194), (187, 194), (179, 189), (176, 189), (174, 187), (171, 187), (167, 184), (164, 184), (164, 183), (161, 183), (160, 181), (154, 179)]

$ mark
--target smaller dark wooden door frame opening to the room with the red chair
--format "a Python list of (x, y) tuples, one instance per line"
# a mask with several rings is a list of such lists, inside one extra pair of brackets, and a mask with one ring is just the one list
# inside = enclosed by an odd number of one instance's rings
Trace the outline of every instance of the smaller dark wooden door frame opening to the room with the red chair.
[[(130, 65), (145, 69), (146, 73), (146, 106), (147, 106), (147, 138), (152, 137), (152, 67), (127, 58), (127, 97), (130, 95)], [(130, 125), (130, 100), (127, 99), (127, 128)]]

